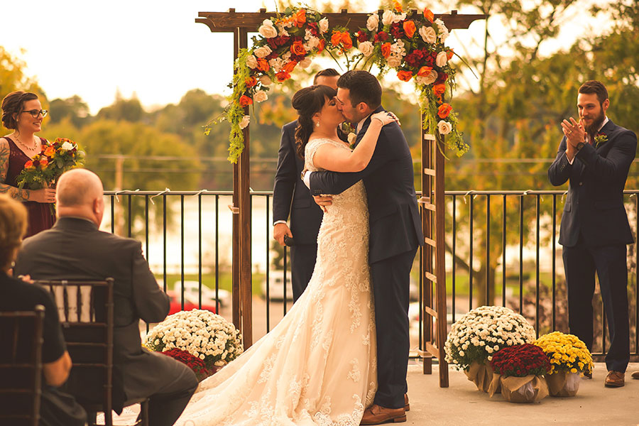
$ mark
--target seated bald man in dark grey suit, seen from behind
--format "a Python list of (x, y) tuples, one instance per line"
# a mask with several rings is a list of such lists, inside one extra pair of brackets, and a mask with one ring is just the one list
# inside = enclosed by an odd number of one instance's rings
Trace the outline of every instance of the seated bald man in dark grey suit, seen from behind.
[[(103, 192), (102, 182), (89, 170), (64, 173), (55, 194), (58, 221), (23, 241), (13, 274), (34, 280), (114, 278), (114, 383), (120, 383), (114, 386), (114, 409), (121, 410), (124, 400), (149, 397), (151, 425), (170, 426), (195, 392), (197, 378), (185, 364), (142, 347), (140, 319), (164, 320), (169, 299), (149, 270), (139, 241), (99, 231)], [(101, 400), (102, 391), (73, 372), (67, 391), (80, 402)]]

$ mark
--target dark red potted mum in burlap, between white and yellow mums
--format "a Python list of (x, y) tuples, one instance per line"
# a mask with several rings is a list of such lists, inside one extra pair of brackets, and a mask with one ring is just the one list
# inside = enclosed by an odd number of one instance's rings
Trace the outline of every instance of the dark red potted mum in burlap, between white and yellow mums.
[(550, 371), (544, 351), (534, 344), (518, 344), (500, 349), (491, 359), (495, 372), (488, 393), (501, 395), (510, 403), (536, 403), (548, 395), (543, 377)]

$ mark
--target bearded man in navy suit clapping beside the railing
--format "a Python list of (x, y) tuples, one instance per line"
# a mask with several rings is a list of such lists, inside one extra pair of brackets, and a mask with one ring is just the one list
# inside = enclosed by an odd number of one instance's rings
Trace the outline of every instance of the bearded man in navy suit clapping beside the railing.
[(630, 359), (626, 244), (633, 244), (623, 187), (637, 149), (637, 136), (606, 116), (606, 87), (591, 80), (579, 87), (579, 122), (564, 120), (564, 137), (548, 169), (555, 186), (569, 181), (559, 244), (568, 287), (568, 324), (592, 349), (595, 272), (606, 311), (611, 346), (605, 386), (624, 385)]

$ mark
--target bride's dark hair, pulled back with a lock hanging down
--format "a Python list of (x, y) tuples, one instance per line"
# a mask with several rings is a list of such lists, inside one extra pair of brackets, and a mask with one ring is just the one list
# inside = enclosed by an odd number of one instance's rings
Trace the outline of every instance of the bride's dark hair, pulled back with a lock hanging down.
[(319, 112), (327, 99), (333, 99), (337, 95), (335, 89), (322, 84), (315, 84), (311, 87), (300, 89), (293, 95), (293, 108), (297, 110), (297, 127), (295, 128), (295, 146), (297, 155), (304, 158), (304, 150), (308, 143), (308, 138), (313, 133), (312, 116)]

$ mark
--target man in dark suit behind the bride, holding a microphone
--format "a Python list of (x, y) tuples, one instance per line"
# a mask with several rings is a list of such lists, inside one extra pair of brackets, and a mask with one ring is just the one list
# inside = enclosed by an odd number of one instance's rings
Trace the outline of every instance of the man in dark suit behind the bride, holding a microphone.
[[(339, 72), (332, 68), (315, 75), (313, 84), (337, 89)], [(273, 185), (273, 239), (282, 246), (288, 236), (295, 241), (290, 246), (291, 285), (293, 301), (297, 300), (310, 281), (317, 258), (317, 234), (322, 223), (322, 209), (313, 202), (308, 188), (300, 179), (304, 160), (297, 155), (295, 129), (297, 120), (282, 128), (278, 151), (278, 171)], [(287, 220), (290, 218), (290, 227)]]

